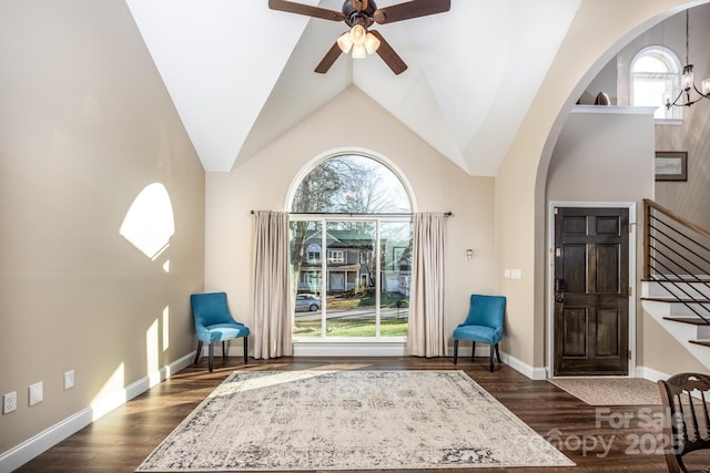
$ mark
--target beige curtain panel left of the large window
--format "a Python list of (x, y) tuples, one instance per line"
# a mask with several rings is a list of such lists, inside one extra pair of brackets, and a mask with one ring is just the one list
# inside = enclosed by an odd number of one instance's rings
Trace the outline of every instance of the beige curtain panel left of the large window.
[(254, 358), (293, 354), (288, 288), (288, 214), (254, 212)]

